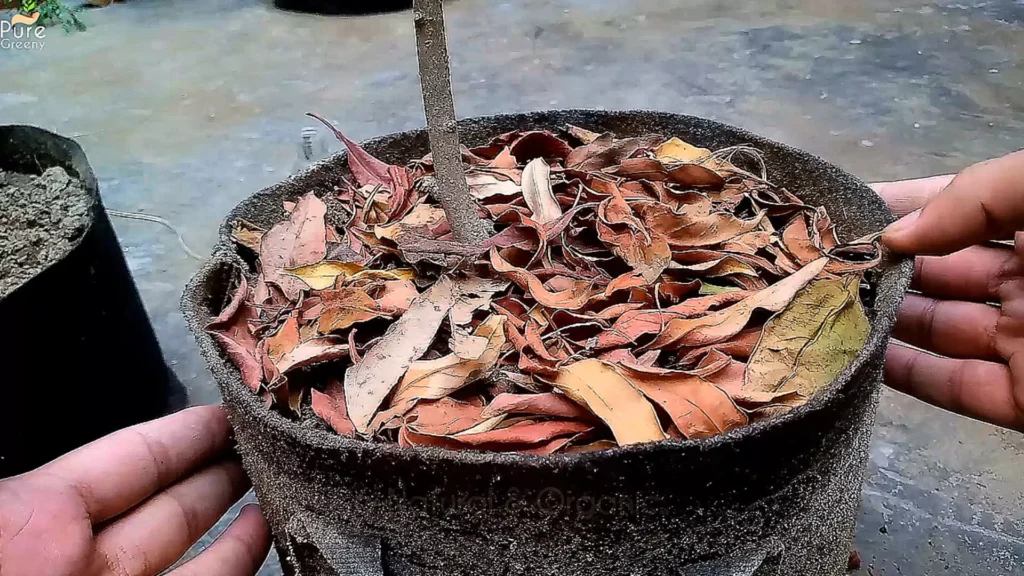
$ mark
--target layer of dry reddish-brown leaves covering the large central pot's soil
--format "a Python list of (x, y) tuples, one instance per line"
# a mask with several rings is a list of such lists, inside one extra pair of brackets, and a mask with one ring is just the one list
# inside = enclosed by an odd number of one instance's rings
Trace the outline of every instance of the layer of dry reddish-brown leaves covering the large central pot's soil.
[(388, 165), (335, 132), (355, 181), (234, 222), (259, 274), (209, 326), (268, 409), (451, 449), (708, 438), (805, 403), (867, 337), (873, 239), (840, 243), (754, 149), (501, 134), (463, 150), (497, 231), (469, 246), (429, 156)]

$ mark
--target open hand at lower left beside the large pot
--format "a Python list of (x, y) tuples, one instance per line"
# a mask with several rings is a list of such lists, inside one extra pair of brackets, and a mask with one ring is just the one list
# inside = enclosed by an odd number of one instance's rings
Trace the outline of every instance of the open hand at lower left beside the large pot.
[[(184, 410), (0, 481), (3, 576), (151, 576), (249, 489), (223, 408)], [(270, 545), (255, 505), (172, 576), (251, 576)]]

